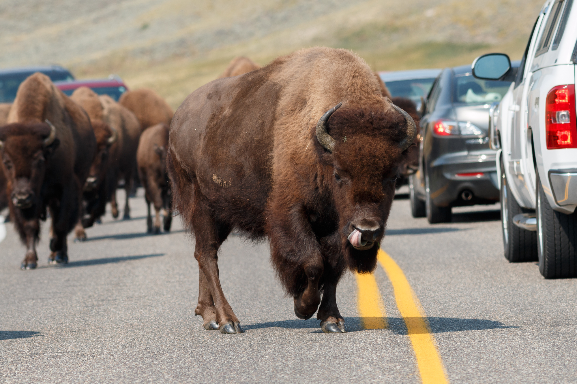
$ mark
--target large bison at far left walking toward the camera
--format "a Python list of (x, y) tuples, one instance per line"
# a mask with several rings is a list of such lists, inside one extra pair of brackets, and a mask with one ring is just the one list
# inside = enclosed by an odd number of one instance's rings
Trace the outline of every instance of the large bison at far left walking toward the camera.
[(68, 262), (66, 235), (78, 220), (96, 150), (87, 114), (41, 73), (18, 88), (8, 125), (0, 127), (10, 214), (26, 245), (22, 269), (36, 268), (40, 219), (52, 219), (51, 263)]

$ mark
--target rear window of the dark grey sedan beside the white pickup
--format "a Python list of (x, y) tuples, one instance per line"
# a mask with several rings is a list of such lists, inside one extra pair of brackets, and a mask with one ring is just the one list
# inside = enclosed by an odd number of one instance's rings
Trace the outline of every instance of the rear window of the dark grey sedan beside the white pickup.
[(509, 85), (509, 81), (480, 80), (470, 73), (460, 74), (455, 76), (453, 102), (474, 105), (501, 101)]

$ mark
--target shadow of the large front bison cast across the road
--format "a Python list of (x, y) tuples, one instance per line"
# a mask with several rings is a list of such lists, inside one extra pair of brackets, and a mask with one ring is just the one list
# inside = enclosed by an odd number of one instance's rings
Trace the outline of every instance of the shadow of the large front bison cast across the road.
[[(362, 318), (362, 317), (346, 317), (344, 322), (347, 325), (348, 332), (358, 332), (365, 330), (362, 324), (364, 322), (374, 322), (374, 320), (381, 320), (381, 318)], [(410, 318), (409, 318), (410, 319)], [(518, 328), (515, 325), (505, 325), (500, 321), (486, 320), (486, 319), (459, 319), (449, 317), (428, 317), (431, 333), (445, 333), (445, 332), (462, 332), (470, 330), (488, 330), (488, 329), (508, 329)], [(407, 327), (405, 319), (402, 317), (387, 318), (388, 327), (384, 329), (389, 333), (406, 335)], [(243, 329), (265, 329), (265, 328), (287, 328), (287, 329), (314, 329), (312, 333), (322, 333), (320, 329), (320, 322), (316, 319), (309, 320), (280, 320), (264, 323), (243, 325)]]

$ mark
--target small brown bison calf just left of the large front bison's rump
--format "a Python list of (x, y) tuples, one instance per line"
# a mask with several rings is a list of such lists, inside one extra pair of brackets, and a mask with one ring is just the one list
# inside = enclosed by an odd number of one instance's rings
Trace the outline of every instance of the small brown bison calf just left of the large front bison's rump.
[[(143, 132), (136, 152), (138, 176), (143, 184), (148, 206), (147, 231), (154, 234), (160, 234), (160, 209), (164, 211), (164, 231), (170, 231), (170, 224), (173, 219), (170, 212), (170, 182), (166, 171), (167, 148), (168, 126), (160, 123)], [(155, 210), (154, 226), (150, 212), (151, 202)]]

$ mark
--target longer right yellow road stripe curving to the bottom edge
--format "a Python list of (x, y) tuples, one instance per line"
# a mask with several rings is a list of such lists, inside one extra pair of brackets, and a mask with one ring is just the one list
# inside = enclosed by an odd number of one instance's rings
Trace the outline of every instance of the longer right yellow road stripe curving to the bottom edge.
[(423, 384), (448, 383), (436, 342), (425, 321), (425, 313), (403, 270), (385, 251), (379, 250), (377, 257), (395, 291), (397, 307), (407, 325)]

